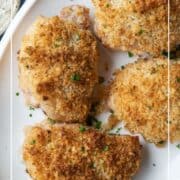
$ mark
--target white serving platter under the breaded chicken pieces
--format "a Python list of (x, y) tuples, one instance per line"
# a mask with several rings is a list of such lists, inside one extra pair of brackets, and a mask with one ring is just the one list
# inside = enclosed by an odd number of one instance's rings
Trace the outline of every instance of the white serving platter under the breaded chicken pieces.
[[(39, 0), (30, 11), (27, 9), (23, 18), (17, 20), (18, 25), (13, 29), (12, 54), (10, 45), (2, 52), (2, 61), (0, 62), (0, 179), (2, 180), (9, 180), (10, 173), (13, 180), (31, 179), (25, 171), (21, 157), (24, 127), (40, 122), (45, 117), (41, 110), (30, 111), (25, 106), (22, 92), (19, 89), (17, 51), (20, 48), (21, 39), (37, 16), (58, 15), (60, 9), (72, 4), (89, 7), (93, 19), (91, 0)], [(136, 57), (129, 58), (126, 52), (112, 52), (102, 45), (100, 45), (100, 53), (100, 72), (106, 79), (111, 77), (115, 69), (136, 60)], [(105, 62), (110, 67), (108, 72), (104, 71)], [(19, 96), (16, 96), (17, 92), (20, 93)], [(29, 117), (29, 114), (32, 114), (32, 117)], [(102, 114), (99, 117), (102, 121), (106, 118), (107, 114)], [(128, 131), (122, 130), (120, 132), (120, 134), (124, 133), (127, 134)], [(133, 177), (133, 180), (180, 180), (180, 150), (176, 148), (176, 144), (158, 148), (154, 144), (145, 142), (142, 137), (140, 140), (143, 145), (143, 161), (139, 173)], [(10, 161), (10, 155), (12, 161)]]

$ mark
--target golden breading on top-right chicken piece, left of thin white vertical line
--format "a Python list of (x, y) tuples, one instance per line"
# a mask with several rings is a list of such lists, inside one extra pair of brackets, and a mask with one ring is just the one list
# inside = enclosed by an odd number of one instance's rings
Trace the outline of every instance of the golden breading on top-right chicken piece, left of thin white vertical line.
[(92, 0), (95, 32), (115, 50), (159, 56), (168, 49), (168, 6), (160, 0)]

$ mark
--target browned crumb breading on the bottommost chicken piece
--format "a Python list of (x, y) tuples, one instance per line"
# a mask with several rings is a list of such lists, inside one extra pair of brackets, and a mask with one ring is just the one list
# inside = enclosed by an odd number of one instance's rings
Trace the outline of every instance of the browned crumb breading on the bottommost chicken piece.
[(138, 137), (107, 135), (78, 124), (37, 125), (23, 147), (27, 172), (36, 180), (130, 180), (138, 171)]

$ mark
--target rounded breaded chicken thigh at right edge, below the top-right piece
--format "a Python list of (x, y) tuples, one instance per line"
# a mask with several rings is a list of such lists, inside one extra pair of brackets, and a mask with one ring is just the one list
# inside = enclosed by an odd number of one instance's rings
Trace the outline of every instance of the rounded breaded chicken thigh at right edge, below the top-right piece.
[[(178, 62), (171, 64), (170, 137), (180, 135)], [(168, 63), (166, 59), (138, 60), (115, 74), (110, 86), (110, 108), (133, 133), (155, 144), (168, 138)], [(180, 137), (180, 136), (179, 136)]]

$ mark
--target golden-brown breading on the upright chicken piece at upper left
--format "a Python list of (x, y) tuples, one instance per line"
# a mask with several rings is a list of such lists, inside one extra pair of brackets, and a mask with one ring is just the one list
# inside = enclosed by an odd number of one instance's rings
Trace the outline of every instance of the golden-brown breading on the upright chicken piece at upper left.
[(24, 36), (19, 53), (19, 81), (28, 105), (48, 117), (85, 122), (98, 82), (97, 42), (59, 17), (39, 17)]

